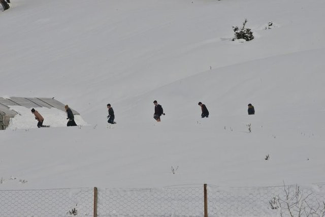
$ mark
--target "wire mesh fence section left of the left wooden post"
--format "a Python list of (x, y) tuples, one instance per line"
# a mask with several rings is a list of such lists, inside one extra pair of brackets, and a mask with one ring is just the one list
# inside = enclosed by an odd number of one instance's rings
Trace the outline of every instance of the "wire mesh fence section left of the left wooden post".
[(93, 189), (0, 191), (0, 216), (74, 216), (93, 214)]

